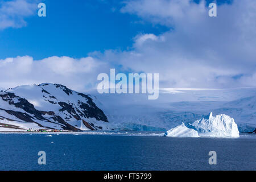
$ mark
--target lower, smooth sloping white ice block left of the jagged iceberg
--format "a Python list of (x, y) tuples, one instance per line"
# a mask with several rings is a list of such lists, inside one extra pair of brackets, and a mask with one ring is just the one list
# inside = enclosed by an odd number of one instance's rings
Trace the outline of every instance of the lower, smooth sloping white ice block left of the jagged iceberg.
[(189, 129), (182, 123), (179, 126), (176, 126), (175, 128), (166, 131), (164, 133), (164, 136), (166, 137), (199, 137), (196, 130)]

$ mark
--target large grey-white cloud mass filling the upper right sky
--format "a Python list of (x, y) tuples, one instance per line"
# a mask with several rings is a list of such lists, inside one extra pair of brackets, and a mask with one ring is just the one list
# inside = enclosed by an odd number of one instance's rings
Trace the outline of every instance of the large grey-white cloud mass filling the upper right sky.
[[(108, 51), (106, 59), (134, 71), (160, 73), (165, 86), (255, 86), (256, 2), (217, 6), (217, 17), (208, 11), (205, 1), (126, 1), (122, 13), (170, 30), (141, 35), (132, 51)], [(163, 41), (156, 41), (160, 37)]]

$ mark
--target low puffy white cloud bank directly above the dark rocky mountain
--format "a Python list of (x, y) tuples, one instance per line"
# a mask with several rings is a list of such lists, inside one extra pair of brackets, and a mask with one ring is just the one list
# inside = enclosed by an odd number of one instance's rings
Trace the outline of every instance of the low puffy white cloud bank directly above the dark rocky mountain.
[(0, 60), (1, 88), (18, 85), (59, 83), (75, 90), (95, 88), (97, 75), (110, 69), (109, 65), (92, 57), (48, 57), (34, 60), (30, 56)]

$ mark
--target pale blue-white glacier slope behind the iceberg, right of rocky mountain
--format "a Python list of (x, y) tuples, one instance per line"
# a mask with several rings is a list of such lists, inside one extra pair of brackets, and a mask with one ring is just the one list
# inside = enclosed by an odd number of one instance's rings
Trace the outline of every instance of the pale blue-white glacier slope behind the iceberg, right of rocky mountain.
[(240, 133), (256, 128), (256, 88), (160, 90), (155, 101), (148, 101), (143, 94), (90, 94), (97, 97), (96, 104), (114, 130), (166, 131), (182, 122), (187, 126), (211, 111), (234, 118)]

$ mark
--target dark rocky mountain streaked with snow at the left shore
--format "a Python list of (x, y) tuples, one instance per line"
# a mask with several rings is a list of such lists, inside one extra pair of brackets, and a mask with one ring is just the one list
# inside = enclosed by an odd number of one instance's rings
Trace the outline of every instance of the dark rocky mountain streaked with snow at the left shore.
[(59, 84), (24, 85), (0, 92), (0, 129), (102, 130), (108, 118), (89, 95)]

